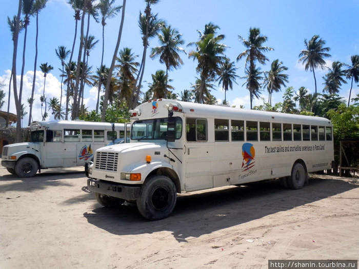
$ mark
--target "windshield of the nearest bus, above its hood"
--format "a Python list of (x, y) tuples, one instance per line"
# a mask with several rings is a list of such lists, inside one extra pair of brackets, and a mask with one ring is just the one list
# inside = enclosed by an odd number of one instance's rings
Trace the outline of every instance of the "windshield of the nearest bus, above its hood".
[[(180, 117), (175, 117), (175, 120), (176, 120), (175, 139), (178, 139), (181, 138), (181, 134), (182, 134), (182, 119)], [(168, 118), (136, 120), (132, 124), (131, 139), (137, 139), (137, 140), (166, 139), (167, 122), (168, 122)]]

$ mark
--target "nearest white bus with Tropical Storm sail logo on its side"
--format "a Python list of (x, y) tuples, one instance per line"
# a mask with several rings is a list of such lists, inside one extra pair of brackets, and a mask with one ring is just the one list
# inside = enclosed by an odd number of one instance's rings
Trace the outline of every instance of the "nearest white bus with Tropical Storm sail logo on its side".
[(104, 206), (135, 201), (151, 220), (172, 212), (177, 193), (276, 178), (300, 189), (334, 160), (322, 117), (167, 99), (130, 113), (130, 143), (95, 152), (88, 189)]

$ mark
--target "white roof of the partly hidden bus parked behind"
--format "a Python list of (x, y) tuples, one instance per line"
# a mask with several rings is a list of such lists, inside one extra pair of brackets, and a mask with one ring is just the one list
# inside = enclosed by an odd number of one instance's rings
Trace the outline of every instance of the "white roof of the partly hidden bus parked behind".
[[(115, 129), (124, 130), (125, 123), (115, 123)], [(35, 129), (84, 129), (84, 130), (112, 130), (110, 122), (96, 122), (84, 120), (49, 120), (49, 121), (33, 121), (30, 124), (30, 130)]]

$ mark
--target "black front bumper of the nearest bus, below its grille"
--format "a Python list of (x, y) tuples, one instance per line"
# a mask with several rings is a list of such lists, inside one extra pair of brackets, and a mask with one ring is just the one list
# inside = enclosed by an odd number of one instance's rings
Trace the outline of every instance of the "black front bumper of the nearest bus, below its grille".
[(139, 197), (141, 187), (139, 185), (129, 186), (89, 178), (87, 179), (87, 189), (94, 193), (101, 193), (124, 200), (136, 200)]

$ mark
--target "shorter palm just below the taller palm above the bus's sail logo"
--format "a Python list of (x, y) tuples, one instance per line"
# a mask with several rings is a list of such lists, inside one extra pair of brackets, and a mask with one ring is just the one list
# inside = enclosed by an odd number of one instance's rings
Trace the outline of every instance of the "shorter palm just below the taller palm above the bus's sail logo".
[(261, 68), (256, 68), (255, 65), (250, 65), (249, 67), (246, 67), (245, 76), (241, 77), (243, 79), (246, 79), (246, 82), (244, 82), (244, 85), (246, 85), (246, 88), (249, 91), (249, 97), (250, 97), (250, 104), (251, 109), (253, 108), (252, 102), (253, 97), (256, 97), (257, 99), (260, 98), (260, 91), (261, 91), (261, 83), (260, 80), (263, 79), (262, 72), (260, 71)]

